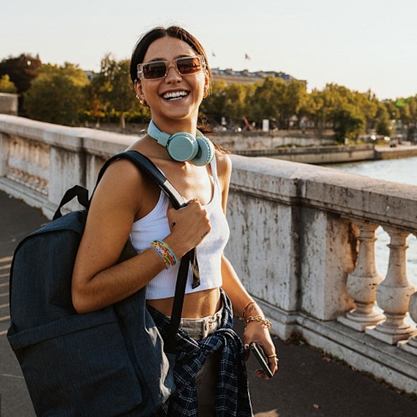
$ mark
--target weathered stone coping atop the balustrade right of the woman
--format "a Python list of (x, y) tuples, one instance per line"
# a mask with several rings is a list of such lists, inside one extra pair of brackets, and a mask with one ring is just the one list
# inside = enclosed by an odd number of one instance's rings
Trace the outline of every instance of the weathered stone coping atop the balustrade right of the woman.
[(416, 186), (272, 158), (232, 161), (231, 187), (244, 193), (417, 231)]

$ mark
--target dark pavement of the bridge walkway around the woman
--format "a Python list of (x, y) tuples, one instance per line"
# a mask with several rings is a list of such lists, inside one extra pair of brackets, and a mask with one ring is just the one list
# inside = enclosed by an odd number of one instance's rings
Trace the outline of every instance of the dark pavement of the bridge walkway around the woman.
[[(8, 273), (19, 240), (47, 222), (40, 211), (0, 192), (0, 417), (35, 416), (8, 341)], [(241, 334), (243, 325), (236, 320)], [(270, 381), (247, 362), (258, 417), (416, 417), (417, 401), (309, 348), (275, 338), (280, 369)], [(417, 360), (417, 359), (416, 359)]]

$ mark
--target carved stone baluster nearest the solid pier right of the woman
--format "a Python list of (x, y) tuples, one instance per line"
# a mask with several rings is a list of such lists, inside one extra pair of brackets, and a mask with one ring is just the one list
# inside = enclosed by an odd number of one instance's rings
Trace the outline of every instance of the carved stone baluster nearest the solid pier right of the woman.
[(376, 325), (385, 318), (375, 311), (377, 285), (382, 281), (375, 265), (375, 230), (378, 225), (361, 221), (355, 221), (355, 224), (359, 227), (357, 265), (347, 275), (347, 294), (353, 298), (355, 308), (337, 320), (364, 332), (366, 327)]

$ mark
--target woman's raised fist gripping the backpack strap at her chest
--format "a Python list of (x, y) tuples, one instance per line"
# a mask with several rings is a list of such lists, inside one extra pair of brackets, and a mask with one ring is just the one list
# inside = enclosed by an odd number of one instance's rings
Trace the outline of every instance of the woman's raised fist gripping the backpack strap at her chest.
[(167, 218), (171, 234), (164, 240), (177, 257), (197, 247), (211, 231), (207, 211), (197, 199), (190, 200), (185, 207), (178, 210), (169, 208)]

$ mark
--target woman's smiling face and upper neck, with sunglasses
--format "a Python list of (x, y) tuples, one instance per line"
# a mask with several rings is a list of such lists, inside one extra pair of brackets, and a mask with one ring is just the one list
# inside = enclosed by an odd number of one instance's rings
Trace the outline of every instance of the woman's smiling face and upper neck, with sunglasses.
[(206, 58), (195, 52), (184, 40), (168, 36), (154, 40), (136, 65), (138, 97), (151, 108), (158, 128), (170, 134), (195, 132), (199, 105), (208, 94)]

